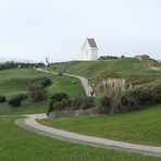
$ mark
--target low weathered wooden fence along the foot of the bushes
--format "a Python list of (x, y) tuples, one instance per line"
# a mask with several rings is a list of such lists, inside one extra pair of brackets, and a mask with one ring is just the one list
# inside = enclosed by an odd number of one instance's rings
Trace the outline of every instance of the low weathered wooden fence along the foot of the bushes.
[(71, 111), (53, 111), (49, 113), (49, 117), (70, 117), (70, 116), (86, 116), (86, 115), (97, 115), (99, 111), (96, 109), (87, 110), (71, 110)]

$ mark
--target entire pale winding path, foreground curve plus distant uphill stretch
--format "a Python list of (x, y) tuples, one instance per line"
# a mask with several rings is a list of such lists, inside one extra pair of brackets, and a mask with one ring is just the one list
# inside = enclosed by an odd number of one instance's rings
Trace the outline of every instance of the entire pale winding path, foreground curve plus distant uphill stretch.
[[(44, 71), (40, 69), (38, 71), (53, 74), (53, 72)], [(74, 75), (70, 75), (70, 76), (74, 76)], [(79, 76), (74, 76), (74, 77), (79, 78), (83, 83), (83, 86), (86, 89), (86, 86), (87, 86), (85, 82), (86, 79)], [(89, 96), (87, 90), (86, 90), (86, 94), (87, 96)], [(104, 138), (92, 137), (92, 136), (87, 136), (87, 135), (79, 135), (76, 133), (71, 133), (71, 132), (45, 126), (36, 122), (36, 120), (47, 119), (47, 115), (45, 113), (26, 114), (23, 116), (25, 117), (16, 120), (15, 124), (23, 128), (40, 134), (40, 135), (46, 135), (49, 137), (59, 138), (59, 139), (63, 139), (63, 140), (72, 141), (72, 143), (89, 145), (92, 147), (111, 148), (111, 149), (119, 149), (119, 150), (144, 153), (148, 156), (161, 157), (161, 147), (152, 147), (152, 146), (144, 146), (144, 145), (135, 145), (135, 144), (115, 141), (111, 139), (104, 139)]]

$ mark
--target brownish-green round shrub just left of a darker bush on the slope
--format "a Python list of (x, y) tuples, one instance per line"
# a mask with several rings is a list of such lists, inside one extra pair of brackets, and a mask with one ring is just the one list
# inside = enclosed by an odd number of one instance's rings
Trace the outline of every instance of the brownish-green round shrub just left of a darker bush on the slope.
[(29, 96), (34, 101), (41, 101), (47, 94), (47, 90), (39, 83), (29, 83), (27, 86)]

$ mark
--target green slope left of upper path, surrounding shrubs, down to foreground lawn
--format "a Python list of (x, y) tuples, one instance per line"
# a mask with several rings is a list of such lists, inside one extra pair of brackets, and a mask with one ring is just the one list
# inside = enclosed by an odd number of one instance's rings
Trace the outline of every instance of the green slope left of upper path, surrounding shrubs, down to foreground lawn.
[(0, 103), (1, 114), (21, 114), (21, 113), (37, 113), (47, 112), (49, 97), (55, 92), (66, 92), (70, 97), (85, 96), (84, 88), (78, 79), (73, 84), (73, 78), (67, 76), (58, 76), (53, 74), (40, 73), (32, 70), (5, 70), (0, 71), (0, 96), (5, 96), (9, 100), (18, 94), (26, 94), (26, 84), (34, 78), (49, 77), (52, 85), (47, 88), (48, 98), (40, 102), (33, 102), (29, 99), (25, 100), (20, 108), (12, 108), (5, 103)]

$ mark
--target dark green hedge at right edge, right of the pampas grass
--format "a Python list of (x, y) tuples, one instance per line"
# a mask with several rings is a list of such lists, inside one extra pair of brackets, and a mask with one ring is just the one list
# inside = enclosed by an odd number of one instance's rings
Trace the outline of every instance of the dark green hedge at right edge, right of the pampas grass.
[(147, 85), (126, 91), (120, 112), (138, 110), (161, 103), (161, 85)]

